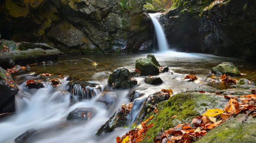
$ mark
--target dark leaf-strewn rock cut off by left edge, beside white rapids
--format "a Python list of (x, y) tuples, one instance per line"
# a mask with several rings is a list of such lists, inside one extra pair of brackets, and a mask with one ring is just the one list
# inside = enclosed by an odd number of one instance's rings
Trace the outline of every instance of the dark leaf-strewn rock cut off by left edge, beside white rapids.
[(12, 76), (0, 67), (0, 113), (14, 112), (14, 99), (17, 93), (18, 87)]

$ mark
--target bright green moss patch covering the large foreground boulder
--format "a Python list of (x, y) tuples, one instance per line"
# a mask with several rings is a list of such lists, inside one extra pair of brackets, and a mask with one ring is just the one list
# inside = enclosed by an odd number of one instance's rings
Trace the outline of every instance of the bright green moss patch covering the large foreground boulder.
[[(146, 117), (155, 116), (150, 122), (150, 124), (154, 123), (154, 126), (146, 132), (142, 143), (153, 143), (153, 139), (161, 128), (167, 130), (180, 122), (191, 121), (192, 117), (199, 115), (194, 110), (195, 107), (194, 97), (183, 93), (174, 95), (168, 101), (160, 103), (158, 105), (160, 112), (155, 115), (154, 113), (150, 113)], [(172, 118), (174, 115), (177, 115), (177, 117)]]

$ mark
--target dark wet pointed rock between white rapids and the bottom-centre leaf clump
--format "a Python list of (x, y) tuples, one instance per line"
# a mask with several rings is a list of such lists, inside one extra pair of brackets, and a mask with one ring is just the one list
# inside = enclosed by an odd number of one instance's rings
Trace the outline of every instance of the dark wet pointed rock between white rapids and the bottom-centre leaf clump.
[(110, 117), (108, 121), (106, 121), (104, 125), (100, 127), (96, 134), (101, 135), (102, 133), (109, 133), (112, 132), (115, 128), (127, 126), (128, 115), (125, 115), (125, 113), (123, 113), (121, 109), (119, 109), (114, 113), (112, 117)]

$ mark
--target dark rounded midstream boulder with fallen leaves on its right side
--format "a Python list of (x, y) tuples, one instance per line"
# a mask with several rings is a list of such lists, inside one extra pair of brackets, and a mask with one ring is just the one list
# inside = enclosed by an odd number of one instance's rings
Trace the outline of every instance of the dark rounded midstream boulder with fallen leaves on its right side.
[(131, 77), (131, 72), (122, 67), (110, 74), (108, 82), (113, 88), (131, 88), (137, 85), (137, 80)]

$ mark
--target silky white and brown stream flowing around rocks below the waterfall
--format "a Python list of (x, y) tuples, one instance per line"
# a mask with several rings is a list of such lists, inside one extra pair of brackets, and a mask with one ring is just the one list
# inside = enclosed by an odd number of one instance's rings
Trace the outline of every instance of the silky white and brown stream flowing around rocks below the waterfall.
[[(107, 86), (109, 74), (119, 67), (132, 69), (135, 67), (135, 61), (138, 58), (146, 58), (147, 54), (117, 54), (117, 55), (80, 55), (59, 57), (54, 63), (65, 60), (79, 60), (88, 58), (96, 61), (98, 65), (94, 66), (90, 61), (80, 60), (68, 64), (62, 62), (59, 64), (50, 64), (43, 66), (31, 65), (31, 70), (26, 73), (14, 74), (19, 92), (15, 98), (16, 112), (0, 120), (0, 142), (14, 143), (19, 135), (30, 129), (40, 130), (29, 143), (115, 143), (117, 136), (122, 136), (128, 131), (128, 128), (118, 128), (111, 133), (96, 136), (96, 131), (119, 109), (122, 103), (129, 103), (129, 95), (134, 90), (139, 90), (145, 95), (153, 94), (163, 88), (171, 88), (174, 94), (186, 91), (188, 88), (196, 85), (209, 85), (218, 89), (227, 89), (230, 85), (218, 81), (219, 76), (211, 74), (211, 68), (227, 61), (232, 62), (238, 67), (242, 77), (233, 77), (236, 79), (247, 78), (249, 80), (256, 78), (256, 64), (248, 63), (241, 59), (219, 57), (198, 53), (182, 53), (168, 51), (165, 53), (153, 53), (160, 65), (169, 66), (169, 72), (161, 73), (158, 76), (163, 80), (161, 85), (149, 85), (143, 82), (145, 76), (135, 76), (140, 83), (133, 89), (116, 90), (117, 100), (110, 107), (106, 107), (97, 102), (97, 96), (90, 100), (82, 100), (77, 104), (70, 106), (70, 93), (68, 76), (73, 79), (81, 79), (99, 84), (102, 89)], [(53, 88), (50, 83), (44, 83), (45, 87), (38, 90), (27, 89), (26, 81), (34, 79), (38, 74), (51, 73), (56, 75), (65, 75), (61, 79), (61, 86)], [(195, 82), (184, 82), (183, 78), (187, 74), (196, 74), (198, 80)], [(215, 84), (210, 80), (215, 80)], [(134, 105), (135, 106), (135, 105)], [(94, 117), (85, 122), (66, 121), (67, 115), (76, 108), (96, 108)], [(137, 116), (141, 105), (137, 105), (131, 121)], [(134, 116), (135, 115), (135, 116)], [(132, 124), (132, 123), (131, 123)]]

